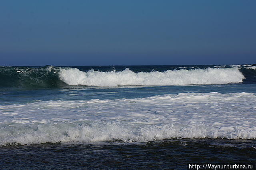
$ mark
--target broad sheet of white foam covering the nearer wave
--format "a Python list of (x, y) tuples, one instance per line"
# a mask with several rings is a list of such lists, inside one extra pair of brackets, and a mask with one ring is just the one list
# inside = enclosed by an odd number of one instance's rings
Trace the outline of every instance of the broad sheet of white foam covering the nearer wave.
[(255, 93), (180, 93), (137, 99), (0, 105), (0, 145), (256, 139)]

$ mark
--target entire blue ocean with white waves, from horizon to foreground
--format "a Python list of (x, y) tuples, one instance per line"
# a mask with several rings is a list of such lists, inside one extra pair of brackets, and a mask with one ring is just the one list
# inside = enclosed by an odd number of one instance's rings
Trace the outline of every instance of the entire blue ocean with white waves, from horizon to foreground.
[(256, 66), (1, 66), (1, 169), (256, 162)]

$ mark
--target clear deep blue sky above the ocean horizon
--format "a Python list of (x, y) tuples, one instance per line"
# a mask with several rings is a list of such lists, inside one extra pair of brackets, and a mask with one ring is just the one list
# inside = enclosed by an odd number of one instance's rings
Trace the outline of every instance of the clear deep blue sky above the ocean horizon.
[(255, 0), (6, 0), (0, 65), (256, 63)]

